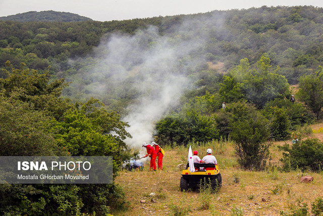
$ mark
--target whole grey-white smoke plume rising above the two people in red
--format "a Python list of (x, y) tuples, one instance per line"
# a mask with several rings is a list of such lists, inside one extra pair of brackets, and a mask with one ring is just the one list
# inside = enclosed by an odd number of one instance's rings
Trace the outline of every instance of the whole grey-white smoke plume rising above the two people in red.
[[(100, 61), (87, 71), (87, 76), (96, 77), (89, 89), (122, 95), (125, 91), (120, 86), (124, 86), (139, 95), (122, 119), (130, 125), (127, 131), (133, 138), (126, 140), (129, 146), (152, 142), (155, 121), (176, 106), (183, 92), (192, 86), (187, 75), (202, 59), (190, 54), (205, 46), (205, 38), (197, 39), (202, 38), (199, 29), (205, 26), (198, 23), (188, 20), (173, 27), (169, 36), (161, 36), (153, 26), (134, 35), (114, 34), (95, 50)], [(100, 82), (100, 77), (109, 77), (109, 83)]]

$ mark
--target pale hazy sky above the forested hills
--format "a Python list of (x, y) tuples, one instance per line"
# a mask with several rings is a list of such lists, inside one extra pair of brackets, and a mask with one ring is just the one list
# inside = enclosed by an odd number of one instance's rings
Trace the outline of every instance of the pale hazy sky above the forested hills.
[(323, 7), (322, 0), (0, 0), (0, 17), (28, 11), (70, 12), (97, 21), (127, 20), (261, 6)]

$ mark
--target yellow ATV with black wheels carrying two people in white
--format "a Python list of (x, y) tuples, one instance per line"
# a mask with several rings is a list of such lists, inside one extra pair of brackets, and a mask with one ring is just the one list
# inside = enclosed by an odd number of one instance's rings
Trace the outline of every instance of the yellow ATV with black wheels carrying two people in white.
[[(218, 165), (214, 163), (194, 163), (195, 170), (191, 172), (188, 170), (189, 164), (187, 163), (186, 169), (182, 171), (180, 181), (181, 191), (187, 191), (189, 188), (192, 190), (199, 190), (201, 184), (210, 184), (213, 192), (220, 190), (222, 185), (222, 177)], [(214, 170), (205, 170), (205, 168), (214, 168)]]

